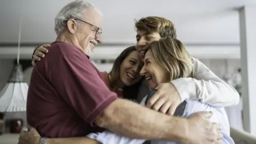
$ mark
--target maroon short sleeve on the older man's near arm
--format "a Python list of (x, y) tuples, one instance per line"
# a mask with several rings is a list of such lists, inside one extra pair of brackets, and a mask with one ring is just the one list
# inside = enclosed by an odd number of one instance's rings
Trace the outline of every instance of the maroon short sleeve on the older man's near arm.
[(76, 47), (62, 44), (49, 50), (49, 79), (57, 93), (85, 122), (95, 118), (117, 99), (102, 81), (91, 61)]

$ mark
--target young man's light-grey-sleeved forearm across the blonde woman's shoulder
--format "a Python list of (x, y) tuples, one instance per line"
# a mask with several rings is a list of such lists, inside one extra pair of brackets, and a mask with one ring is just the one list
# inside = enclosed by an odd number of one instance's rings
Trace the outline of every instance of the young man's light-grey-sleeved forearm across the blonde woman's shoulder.
[(237, 105), (239, 94), (221, 79), (197, 80), (195, 78), (180, 78), (172, 81), (182, 100), (201, 100), (212, 106), (226, 107)]

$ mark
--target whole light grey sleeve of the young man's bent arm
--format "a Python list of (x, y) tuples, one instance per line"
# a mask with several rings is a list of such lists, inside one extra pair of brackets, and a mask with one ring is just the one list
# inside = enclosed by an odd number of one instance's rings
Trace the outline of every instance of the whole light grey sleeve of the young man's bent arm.
[(201, 61), (194, 59), (193, 78), (178, 78), (171, 83), (177, 89), (181, 100), (201, 100), (212, 106), (235, 106), (239, 102), (239, 94)]

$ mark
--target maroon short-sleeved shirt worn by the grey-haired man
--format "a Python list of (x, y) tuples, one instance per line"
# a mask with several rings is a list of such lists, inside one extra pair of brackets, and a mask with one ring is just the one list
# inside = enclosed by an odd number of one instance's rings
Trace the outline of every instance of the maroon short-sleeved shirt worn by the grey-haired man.
[(27, 122), (42, 137), (81, 137), (100, 131), (93, 121), (116, 99), (82, 51), (53, 42), (31, 74)]

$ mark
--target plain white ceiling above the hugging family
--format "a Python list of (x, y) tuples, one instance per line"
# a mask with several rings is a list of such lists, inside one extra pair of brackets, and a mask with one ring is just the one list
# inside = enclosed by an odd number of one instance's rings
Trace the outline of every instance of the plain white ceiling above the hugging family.
[[(191, 44), (239, 43), (237, 9), (256, 0), (88, 0), (103, 12), (103, 42), (135, 43), (134, 19), (156, 15), (172, 20), (178, 38)], [(54, 41), (54, 17), (71, 0), (1, 0), (0, 43)], [(20, 12), (22, 9), (22, 12)]]

